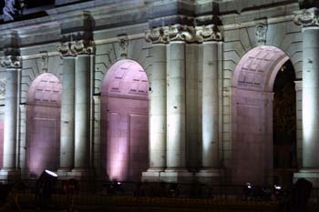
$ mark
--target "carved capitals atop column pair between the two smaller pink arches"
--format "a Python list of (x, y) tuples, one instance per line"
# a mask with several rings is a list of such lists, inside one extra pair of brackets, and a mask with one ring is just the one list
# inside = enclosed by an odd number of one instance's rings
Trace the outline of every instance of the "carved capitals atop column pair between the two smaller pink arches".
[(67, 41), (58, 46), (61, 56), (77, 56), (93, 54), (93, 42), (87, 40)]

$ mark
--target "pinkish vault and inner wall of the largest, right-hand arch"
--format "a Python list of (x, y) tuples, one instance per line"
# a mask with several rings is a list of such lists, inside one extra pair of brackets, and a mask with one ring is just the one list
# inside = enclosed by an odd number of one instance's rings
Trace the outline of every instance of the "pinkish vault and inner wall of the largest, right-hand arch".
[[(273, 128), (273, 98), (274, 104), (286, 101), (279, 97), (280, 91), (286, 91), (278, 88), (283, 77), (278, 72), (289, 64), (289, 57), (281, 49), (263, 45), (247, 52), (235, 68), (232, 78), (232, 183), (273, 183), (273, 162), (276, 162), (273, 146), (277, 145), (277, 141), (273, 143), (274, 133), (279, 133), (276, 126)], [(293, 66), (290, 69), (293, 72)], [(293, 83), (293, 79), (288, 81), (290, 85)], [(295, 93), (291, 97), (295, 99)], [(276, 115), (279, 116), (284, 115)], [(295, 127), (295, 120), (291, 125)]]

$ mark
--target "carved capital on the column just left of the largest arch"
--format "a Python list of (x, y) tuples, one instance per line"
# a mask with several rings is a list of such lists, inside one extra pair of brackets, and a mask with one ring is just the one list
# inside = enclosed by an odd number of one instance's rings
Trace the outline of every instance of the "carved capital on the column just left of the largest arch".
[(196, 42), (202, 43), (204, 41), (220, 41), (221, 31), (216, 25), (201, 25), (196, 26)]

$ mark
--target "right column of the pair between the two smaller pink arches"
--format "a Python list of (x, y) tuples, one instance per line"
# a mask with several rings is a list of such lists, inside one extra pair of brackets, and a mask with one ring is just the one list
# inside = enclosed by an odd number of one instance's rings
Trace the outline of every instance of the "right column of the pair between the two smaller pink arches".
[(75, 68), (75, 162), (72, 172), (78, 177), (90, 175), (90, 76), (93, 47), (77, 41)]

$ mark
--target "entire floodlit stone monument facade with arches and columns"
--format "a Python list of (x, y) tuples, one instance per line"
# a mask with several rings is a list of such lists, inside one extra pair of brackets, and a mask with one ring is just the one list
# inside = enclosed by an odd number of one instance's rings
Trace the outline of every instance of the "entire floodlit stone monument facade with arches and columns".
[(293, 179), (319, 186), (315, 3), (18, 2), (5, 1), (0, 25), (1, 178), (50, 169), (60, 178), (271, 185), (273, 84), (291, 61)]

